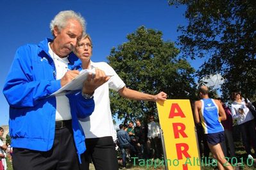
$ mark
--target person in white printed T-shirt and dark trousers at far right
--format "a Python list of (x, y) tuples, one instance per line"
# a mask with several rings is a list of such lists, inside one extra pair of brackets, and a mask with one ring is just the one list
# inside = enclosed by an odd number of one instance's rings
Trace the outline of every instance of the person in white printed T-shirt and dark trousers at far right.
[[(243, 144), (248, 158), (253, 158), (253, 154), (251, 152), (251, 142), (253, 150), (256, 153), (254, 117), (240, 91), (233, 91), (231, 93), (231, 99), (233, 100), (233, 103), (231, 104), (232, 117), (234, 120), (237, 120), (238, 127), (241, 129)], [(248, 103), (250, 103), (249, 100)], [(256, 158), (255, 153), (254, 158)]]

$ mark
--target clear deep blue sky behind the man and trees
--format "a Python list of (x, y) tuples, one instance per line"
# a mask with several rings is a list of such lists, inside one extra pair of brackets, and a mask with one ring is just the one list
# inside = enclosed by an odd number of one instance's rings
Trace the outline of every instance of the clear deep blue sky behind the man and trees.
[[(62, 10), (81, 13), (94, 45), (92, 61), (106, 61), (112, 47), (127, 42), (140, 26), (162, 31), (163, 39), (177, 42), (179, 25), (187, 25), (185, 6), (169, 6), (167, 0), (1, 0), (0, 126), (8, 125), (8, 103), (3, 95), (6, 76), (17, 48), (52, 38), (49, 23)], [(199, 61), (191, 65), (198, 68)]]

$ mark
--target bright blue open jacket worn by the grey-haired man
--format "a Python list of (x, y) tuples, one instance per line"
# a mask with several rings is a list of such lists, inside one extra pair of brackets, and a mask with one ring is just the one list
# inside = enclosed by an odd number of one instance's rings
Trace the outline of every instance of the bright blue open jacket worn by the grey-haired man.
[[(49, 97), (61, 88), (56, 80), (55, 63), (49, 55), (47, 39), (38, 45), (20, 47), (4, 84), (3, 93), (10, 105), (9, 130), (12, 147), (48, 151), (55, 138), (56, 98)], [(69, 55), (69, 70), (80, 65)], [(72, 114), (74, 141), (80, 158), (85, 148), (85, 135), (78, 118), (90, 116), (94, 100), (85, 100), (81, 93), (68, 95)]]

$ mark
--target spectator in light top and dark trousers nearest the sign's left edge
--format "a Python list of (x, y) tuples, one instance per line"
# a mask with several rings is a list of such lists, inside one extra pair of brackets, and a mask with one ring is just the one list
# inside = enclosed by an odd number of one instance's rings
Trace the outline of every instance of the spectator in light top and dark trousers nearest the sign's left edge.
[(153, 151), (153, 158), (160, 158), (160, 150), (162, 150), (160, 141), (160, 126), (154, 121), (154, 116), (149, 116), (148, 123), (148, 148)]

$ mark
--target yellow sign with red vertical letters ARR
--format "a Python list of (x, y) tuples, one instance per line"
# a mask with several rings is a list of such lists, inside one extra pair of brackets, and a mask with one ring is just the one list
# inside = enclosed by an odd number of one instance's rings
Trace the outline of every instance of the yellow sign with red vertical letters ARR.
[(157, 103), (168, 169), (201, 169), (194, 119), (189, 100)]

